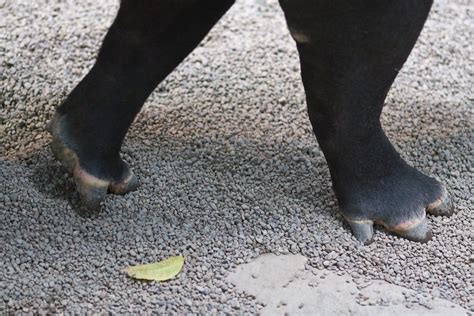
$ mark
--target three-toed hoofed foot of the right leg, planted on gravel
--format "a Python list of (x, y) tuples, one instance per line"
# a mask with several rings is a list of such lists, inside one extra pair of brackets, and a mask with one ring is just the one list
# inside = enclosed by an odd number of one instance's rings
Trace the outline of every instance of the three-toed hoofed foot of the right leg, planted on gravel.
[(406, 239), (427, 242), (432, 232), (426, 213), (453, 213), (444, 186), (408, 165), (375, 180), (349, 181), (339, 188), (338, 197), (346, 221), (364, 244), (372, 241), (374, 224)]

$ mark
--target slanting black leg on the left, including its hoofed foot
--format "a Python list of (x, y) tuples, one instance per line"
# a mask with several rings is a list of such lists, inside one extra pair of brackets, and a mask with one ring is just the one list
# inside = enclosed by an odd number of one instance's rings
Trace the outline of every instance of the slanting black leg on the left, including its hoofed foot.
[(138, 180), (119, 151), (156, 85), (204, 38), (233, 0), (122, 0), (97, 61), (58, 108), (50, 131), (56, 157), (86, 205)]

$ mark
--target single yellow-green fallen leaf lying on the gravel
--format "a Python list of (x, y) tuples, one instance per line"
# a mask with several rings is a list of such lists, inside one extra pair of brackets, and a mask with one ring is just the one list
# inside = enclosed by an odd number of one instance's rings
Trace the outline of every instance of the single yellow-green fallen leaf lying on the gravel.
[(174, 278), (181, 271), (183, 265), (184, 257), (174, 256), (160, 262), (128, 267), (125, 272), (134, 279), (166, 281)]

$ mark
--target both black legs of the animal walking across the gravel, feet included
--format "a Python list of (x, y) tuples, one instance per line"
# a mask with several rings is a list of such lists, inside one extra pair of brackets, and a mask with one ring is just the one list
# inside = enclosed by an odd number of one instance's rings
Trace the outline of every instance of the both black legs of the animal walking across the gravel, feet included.
[[(125, 194), (138, 179), (120, 147), (146, 98), (204, 38), (232, 0), (122, 0), (97, 61), (50, 124), (55, 156), (84, 203)], [(409, 166), (380, 125), (393, 80), (431, 0), (280, 0), (301, 61), (308, 113), (340, 210), (355, 237), (373, 225), (431, 238), (426, 212), (450, 215), (446, 189)]]

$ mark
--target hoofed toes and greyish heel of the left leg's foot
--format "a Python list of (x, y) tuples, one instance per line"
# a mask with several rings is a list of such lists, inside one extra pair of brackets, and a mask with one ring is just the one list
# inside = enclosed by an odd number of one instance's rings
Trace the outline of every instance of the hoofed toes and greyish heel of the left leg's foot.
[(100, 208), (108, 192), (123, 195), (137, 189), (138, 178), (120, 157), (113, 161), (81, 158), (80, 152), (87, 148), (81, 148), (68, 132), (64, 116), (56, 113), (48, 131), (53, 137), (54, 156), (73, 176), (82, 201), (90, 209)]

